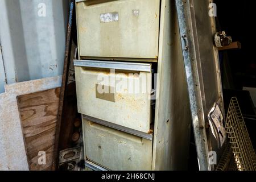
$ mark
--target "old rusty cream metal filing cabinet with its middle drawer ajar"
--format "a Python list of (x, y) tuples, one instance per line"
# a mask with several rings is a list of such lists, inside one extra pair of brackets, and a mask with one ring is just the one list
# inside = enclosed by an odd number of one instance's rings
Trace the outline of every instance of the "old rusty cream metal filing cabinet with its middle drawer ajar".
[(186, 169), (191, 117), (174, 1), (78, 0), (76, 10), (87, 170)]

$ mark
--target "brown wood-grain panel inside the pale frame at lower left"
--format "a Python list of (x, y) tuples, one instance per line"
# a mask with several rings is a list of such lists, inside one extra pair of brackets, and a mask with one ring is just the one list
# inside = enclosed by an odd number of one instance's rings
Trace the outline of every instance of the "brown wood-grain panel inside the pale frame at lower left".
[[(31, 171), (52, 169), (60, 88), (18, 96), (23, 137)], [(46, 152), (46, 164), (39, 165), (39, 151)]]

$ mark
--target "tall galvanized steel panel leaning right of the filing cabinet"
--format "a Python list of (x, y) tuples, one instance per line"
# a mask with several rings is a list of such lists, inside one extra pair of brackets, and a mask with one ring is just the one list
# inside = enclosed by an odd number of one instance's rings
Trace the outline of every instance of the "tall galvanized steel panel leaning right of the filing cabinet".
[(209, 151), (217, 152), (217, 159), (221, 156), (207, 127), (208, 114), (216, 102), (224, 113), (218, 49), (213, 43), (216, 24), (209, 16), (211, 2), (176, 0), (197, 156), (203, 171), (214, 169)]

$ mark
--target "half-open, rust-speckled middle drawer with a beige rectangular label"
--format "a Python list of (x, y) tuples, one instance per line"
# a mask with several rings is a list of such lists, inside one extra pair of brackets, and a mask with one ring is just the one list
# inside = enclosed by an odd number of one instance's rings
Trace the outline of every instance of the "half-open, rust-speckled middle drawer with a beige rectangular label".
[(74, 60), (79, 113), (150, 133), (151, 64)]

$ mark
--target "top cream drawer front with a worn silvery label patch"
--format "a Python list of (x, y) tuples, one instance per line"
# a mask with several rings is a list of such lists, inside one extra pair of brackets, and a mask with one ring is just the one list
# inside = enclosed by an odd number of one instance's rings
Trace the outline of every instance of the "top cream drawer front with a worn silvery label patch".
[(77, 1), (80, 56), (157, 59), (160, 0)]

